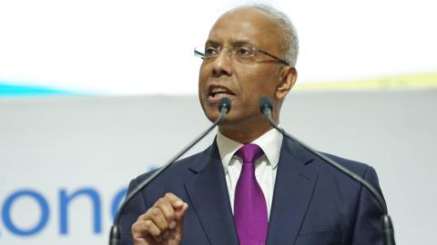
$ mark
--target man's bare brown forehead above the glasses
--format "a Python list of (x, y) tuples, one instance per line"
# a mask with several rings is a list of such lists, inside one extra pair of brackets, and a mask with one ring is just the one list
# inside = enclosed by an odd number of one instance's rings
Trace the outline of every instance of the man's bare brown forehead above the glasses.
[(279, 24), (255, 8), (231, 10), (212, 26), (208, 42), (233, 44), (248, 42), (260, 48), (279, 47)]

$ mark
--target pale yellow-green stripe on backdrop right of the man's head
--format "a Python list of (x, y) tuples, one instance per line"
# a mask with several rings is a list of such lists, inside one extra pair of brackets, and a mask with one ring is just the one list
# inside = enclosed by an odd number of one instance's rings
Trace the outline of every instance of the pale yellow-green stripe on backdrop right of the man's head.
[(294, 89), (310, 90), (380, 90), (437, 88), (437, 73), (414, 73), (337, 82), (296, 83)]

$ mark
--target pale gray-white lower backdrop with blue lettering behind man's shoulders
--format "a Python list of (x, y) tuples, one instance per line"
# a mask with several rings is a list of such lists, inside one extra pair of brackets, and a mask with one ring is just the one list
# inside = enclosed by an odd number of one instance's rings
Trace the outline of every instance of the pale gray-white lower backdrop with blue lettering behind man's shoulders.
[[(374, 166), (398, 244), (433, 244), (436, 95), (291, 93), (281, 123), (320, 151)], [(0, 112), (0, 244), (8, 245), (106, 244), (128, 181), (208, 126), (194, 96), (0, 99)]]

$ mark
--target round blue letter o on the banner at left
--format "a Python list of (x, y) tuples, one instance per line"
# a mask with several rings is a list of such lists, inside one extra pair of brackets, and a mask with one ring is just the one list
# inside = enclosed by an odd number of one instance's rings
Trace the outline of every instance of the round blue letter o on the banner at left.
[[(34, 227), (26, 230), (16, 227), (13, 220), (11, 219), (11, 208), (14, 202), (22, 197), (30, 197), (34, 199), (38, 203), (39, 208), (41, 209), (41, 217), (37, 222), (37, 224)], [(13, 232), (15, 235), (19, 235), (19, 236), (31, 236), (42, 230), (46, 226), (46, 223), (48, 221), (48, 216), (49, 216), (49, 209), (46, 199), (38, 192), (31, 191), (31, 190), (16, 191), (14, 194), (12, 194), (6, 199), (2, 209), (2, 217), (5, 222), (5, 227), (11, 232)]]

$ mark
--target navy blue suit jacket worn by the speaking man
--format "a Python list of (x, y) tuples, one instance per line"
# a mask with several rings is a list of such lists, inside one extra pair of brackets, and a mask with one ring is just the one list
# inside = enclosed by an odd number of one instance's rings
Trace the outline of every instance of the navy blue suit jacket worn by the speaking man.
[[(370, 166), (330, 157), (379, 190)], [(360, 184), (287, 139), (278, 168), (267, 244), (382, 245), (380, 206)], [(149, 174), (131, 181), (129, 191)], [(132, 244), (137, 217), (166, 192), (188, 203), (182, 244), (239, 244), (216, 143), (176, 162), (132, 200), (121, 217), (123, 245)]]

